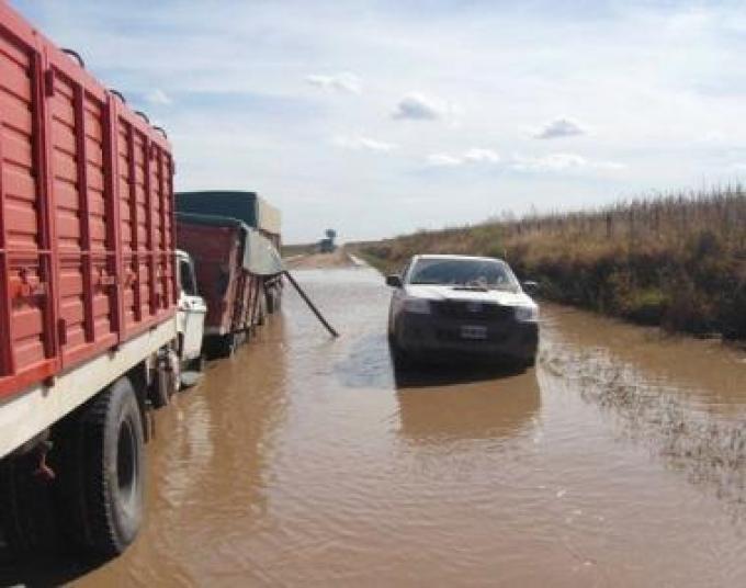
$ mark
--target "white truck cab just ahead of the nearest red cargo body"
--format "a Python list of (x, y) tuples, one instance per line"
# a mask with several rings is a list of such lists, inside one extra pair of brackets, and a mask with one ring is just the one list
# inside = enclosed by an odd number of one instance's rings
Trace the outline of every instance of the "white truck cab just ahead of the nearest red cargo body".
[(177, 307), (179, 359), (182, 371), (199, 372), (202, 371), (202, 339), (207, 305), (197, 292), (194, 263), (189, 253), (177, 250), (177, 264), (179, 267), (179, 304)]

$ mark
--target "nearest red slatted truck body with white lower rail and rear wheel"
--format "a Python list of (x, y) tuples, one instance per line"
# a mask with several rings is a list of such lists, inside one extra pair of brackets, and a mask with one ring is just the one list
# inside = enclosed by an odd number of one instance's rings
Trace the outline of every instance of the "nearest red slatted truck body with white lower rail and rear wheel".
[[(0, 1), (0, 521), (122, 552), (176, 388), (165, 134)], [(48, 507), (48, 508), (47, 508)]]

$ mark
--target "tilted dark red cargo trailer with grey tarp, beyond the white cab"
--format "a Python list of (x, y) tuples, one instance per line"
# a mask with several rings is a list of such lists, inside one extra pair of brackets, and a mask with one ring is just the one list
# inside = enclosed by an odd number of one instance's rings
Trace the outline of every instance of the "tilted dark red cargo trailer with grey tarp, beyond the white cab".
[(177, 241), (194, 259), (207, 303), (205, 350), (230, 357), (264, 320), (267, 285), (283, 271), (280, 255), (257, 229), (226, 216), (177, 213)]

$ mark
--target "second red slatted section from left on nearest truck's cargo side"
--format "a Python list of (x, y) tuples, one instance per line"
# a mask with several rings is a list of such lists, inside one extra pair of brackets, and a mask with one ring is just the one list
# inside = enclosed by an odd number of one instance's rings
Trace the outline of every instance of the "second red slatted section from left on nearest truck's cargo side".
[(106, 97), (68, 77), (63, 67), (68, 63), (50, 69), (47, 108), (59, 248), (59, 337), (67, 364), (117, 340), (112, 280), (116, 258), (104, 194)]

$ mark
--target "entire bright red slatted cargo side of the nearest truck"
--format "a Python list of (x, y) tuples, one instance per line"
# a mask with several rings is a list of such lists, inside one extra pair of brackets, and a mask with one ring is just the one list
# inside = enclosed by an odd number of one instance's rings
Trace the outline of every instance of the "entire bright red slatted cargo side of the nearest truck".
[(173, 316), (165, 137), (0, 2), (0, 396)]

